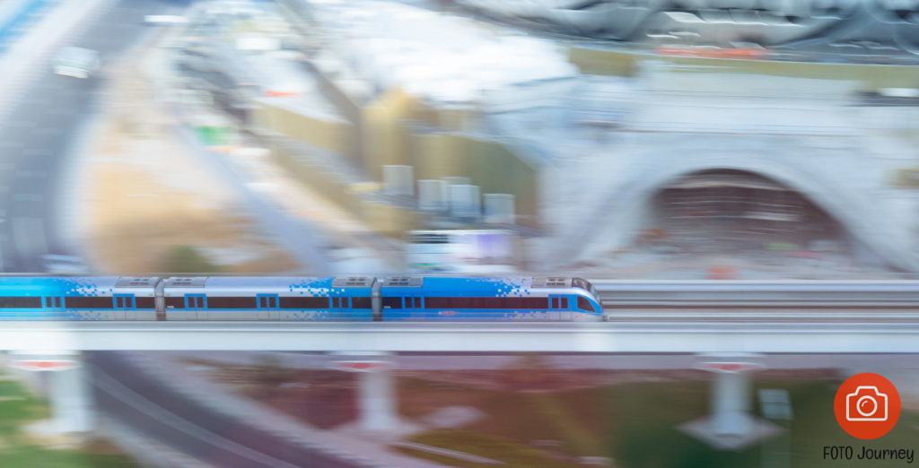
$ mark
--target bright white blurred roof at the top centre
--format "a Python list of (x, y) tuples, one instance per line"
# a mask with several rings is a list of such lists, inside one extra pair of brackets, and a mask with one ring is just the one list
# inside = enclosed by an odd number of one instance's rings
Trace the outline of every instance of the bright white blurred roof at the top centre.
[(471, 103), (509, 84), (573, 76), (563, 51), (542, 39), (501, 35), (462, 17), (391, 2), (313, 1), (341, 38), (336, 52), (382, 88)]

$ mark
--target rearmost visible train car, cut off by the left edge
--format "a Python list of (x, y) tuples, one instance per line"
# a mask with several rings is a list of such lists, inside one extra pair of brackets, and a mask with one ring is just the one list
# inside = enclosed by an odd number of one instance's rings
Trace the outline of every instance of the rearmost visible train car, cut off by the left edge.
[(154, 320), (157, 277), (0, 277), (3, 320)]

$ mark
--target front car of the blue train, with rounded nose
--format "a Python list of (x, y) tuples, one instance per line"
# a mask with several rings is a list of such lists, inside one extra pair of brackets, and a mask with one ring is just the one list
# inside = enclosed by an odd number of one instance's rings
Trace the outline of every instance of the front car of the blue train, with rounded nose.
[(385, 321), (603, 319), (589, 283), (573, 286), (572, 278), (390, 277), (382, 279), (380, 295)]

